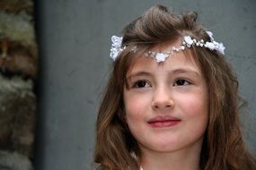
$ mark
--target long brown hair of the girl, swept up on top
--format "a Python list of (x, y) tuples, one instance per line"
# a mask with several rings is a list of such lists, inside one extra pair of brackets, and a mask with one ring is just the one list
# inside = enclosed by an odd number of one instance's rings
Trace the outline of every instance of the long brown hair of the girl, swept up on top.
[[(129, 68), (149, 48), (184, 35), (210, 38), (197, 22), (197, 13), (174, 15), (155, 5), (132, 21), (123, 31), (126, 49), (113, 64), (110, 80), (102, 98), (97, 123), (94, 161), (103, 170), (138, 170), (140, 150), (124, 120), (123, 89)], [(137, 52), (131, 53), (137, 46)], [(209, 119), (200, 157), (204, 170), (256, 169), (255, 158), (245, 149), (238, 120), (238, 81), (225, 57), (205, 47), (191, 48), (207, 82)], [(133, 153), (133, 154), (131, 154)], [(137, 157), (134, 157), (134, 155)]]

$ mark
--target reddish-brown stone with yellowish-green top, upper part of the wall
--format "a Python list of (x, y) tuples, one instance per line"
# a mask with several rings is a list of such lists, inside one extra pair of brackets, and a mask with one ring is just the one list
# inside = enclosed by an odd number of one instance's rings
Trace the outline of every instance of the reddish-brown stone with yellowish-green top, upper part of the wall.
[(33, 17), (24, 10), (19, 13), (1, 11), (3, 4), (0, 4), (1, 71), (4, 74), (19, 74), (35, 79), (38, 54)]

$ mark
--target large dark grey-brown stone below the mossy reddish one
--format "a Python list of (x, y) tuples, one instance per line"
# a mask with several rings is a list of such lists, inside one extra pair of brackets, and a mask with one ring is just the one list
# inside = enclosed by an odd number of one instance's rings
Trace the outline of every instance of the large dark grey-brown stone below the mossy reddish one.
[(0, 76), (0, 149), (32, 157), (36, 98), (32, 82)]

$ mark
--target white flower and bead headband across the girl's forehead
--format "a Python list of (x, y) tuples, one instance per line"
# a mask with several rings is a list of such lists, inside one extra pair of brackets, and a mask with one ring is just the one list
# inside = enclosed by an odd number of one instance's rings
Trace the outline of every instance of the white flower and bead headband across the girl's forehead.
[[(210, 42), (204, 42), (203, 39), (197, 40), (195, 38), (191, 38), (190, 36), (184, 36), (181, 46), (172, 47), (172, 50), (166, 53), (148, 51), (144, 55), (148, 57), (155, 58), (156, 62), (164, 62), (166, 58), (173, 54), (173, 52), (179, 52), (181, 50), (190, 48), (193, 45), (196, 47), (207, 47), (210, 50), (216, 50), (220, 54), (224, 55), (225, 47), (222, 43), (218, 43), (213, 38), (213, 33), (211, 31), (207, 31), (208, 36), (210, 37)], [(126, 48), (121, 47), (122, 45), (122, 37), (112, 36), (112, 46), (110, 49), (110, 57), (115, 61), (117, 57), (119, 57), (120, 53)], [(133, 48), (133, 51), (136, 51), (136, 47)]]

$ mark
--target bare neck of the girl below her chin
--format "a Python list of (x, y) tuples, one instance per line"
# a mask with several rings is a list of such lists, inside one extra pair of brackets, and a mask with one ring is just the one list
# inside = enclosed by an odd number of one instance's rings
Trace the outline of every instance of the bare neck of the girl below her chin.
[(199, 170), (200, 148), (190, 148), (172, 153), (142, 149), (143, 170)]

